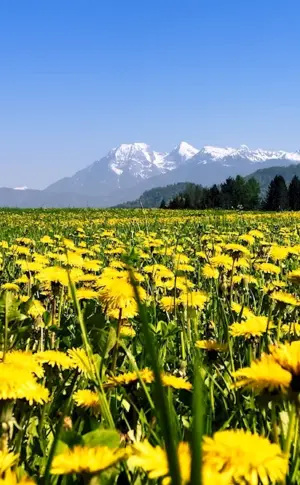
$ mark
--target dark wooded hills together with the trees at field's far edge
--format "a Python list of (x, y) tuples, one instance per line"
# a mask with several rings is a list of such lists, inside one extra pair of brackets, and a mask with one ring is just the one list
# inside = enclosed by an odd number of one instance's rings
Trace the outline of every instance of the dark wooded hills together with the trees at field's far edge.
[(138, 199), (117, 207), (300, 210), (299, 179), (300, 164), (270, 167), (257, 170), (247, 177), (228, 178), (223, 184), (210, 188), (189, 182), (155, 187), (144, 192)]

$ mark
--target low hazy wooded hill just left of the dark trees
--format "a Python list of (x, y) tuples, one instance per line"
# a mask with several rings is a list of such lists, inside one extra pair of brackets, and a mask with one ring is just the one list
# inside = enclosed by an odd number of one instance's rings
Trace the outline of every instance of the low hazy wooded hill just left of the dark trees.
[(154, 208), (159, 207), (162, 200), (164, 199), (168, 203), (171, 199), (176, 197), (176, 195), (184, 192), (187, 188), (188, 182), (180, 182), (178, 184), (167, 185), (166, 187), (155, 187), (154, 189), (146, 190), (138, 199), (130, 202), (124, 202), (124, 204), (119, 204), (118, 208), (134, 208), (134, 207), (145, 207)]

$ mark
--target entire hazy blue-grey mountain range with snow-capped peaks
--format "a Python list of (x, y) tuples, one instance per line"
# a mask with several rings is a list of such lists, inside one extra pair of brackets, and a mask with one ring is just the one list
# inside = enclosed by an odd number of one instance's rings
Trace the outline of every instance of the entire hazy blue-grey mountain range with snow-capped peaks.
[(145, 143), (122, 144), (86, 168), (44, 190), (0, 189), (0, 206), (108, 207), (133, 200), (145, 191), (178, 182), (203, 186), (258, 169), (300, 163), (300, 151), (286, 152), (204, 146), (181, 142), (170, 152)]

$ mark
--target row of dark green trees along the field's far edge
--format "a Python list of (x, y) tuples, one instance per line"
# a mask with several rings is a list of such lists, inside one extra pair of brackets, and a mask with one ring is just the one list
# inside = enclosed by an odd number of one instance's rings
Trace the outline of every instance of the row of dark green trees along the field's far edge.
[(221, 185), (202, 187), (188, 184), (186, 189), (173, 197), (166, 209), (243, 209), (243, 210), (300, 210), (300, 180), (295, 175), (287, 186), (281, 175), (270, 182), (265, 198), (260, 195), (260, 185), (255, 178), (238, 175), (229, 177)]

